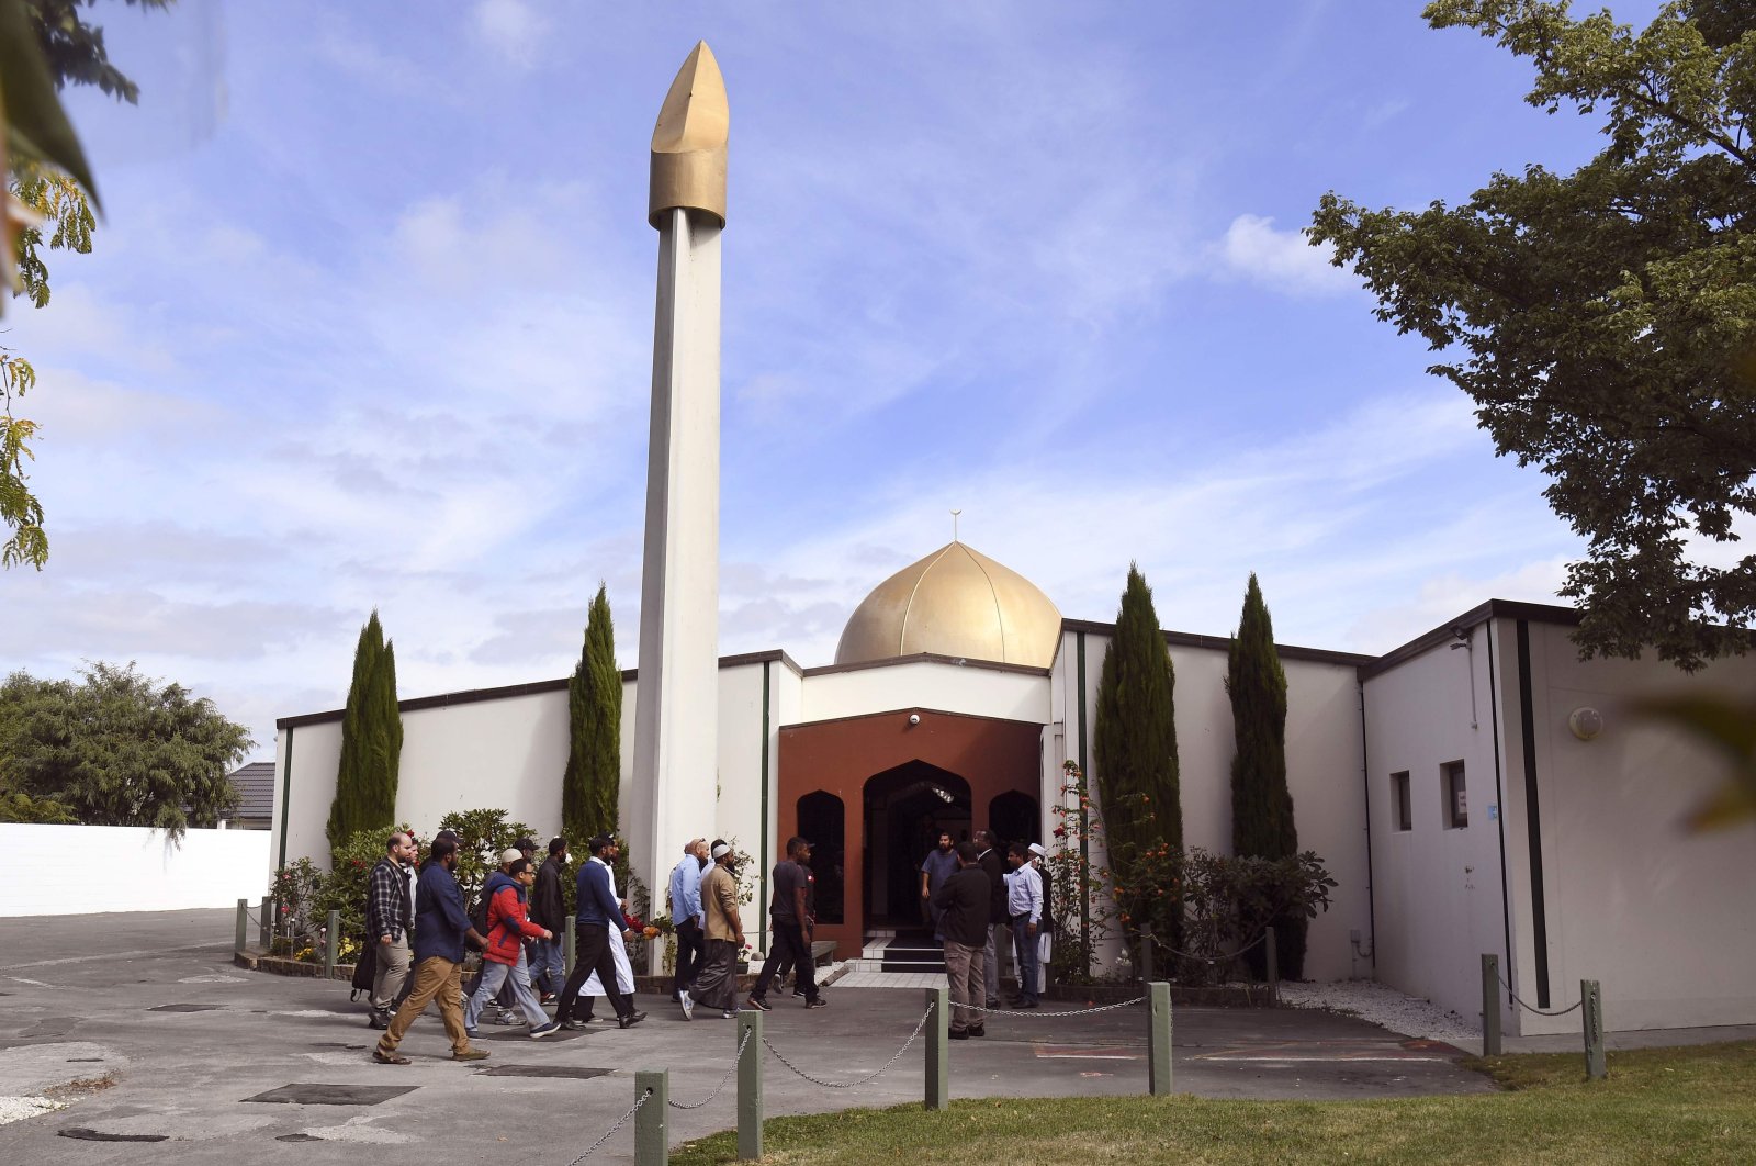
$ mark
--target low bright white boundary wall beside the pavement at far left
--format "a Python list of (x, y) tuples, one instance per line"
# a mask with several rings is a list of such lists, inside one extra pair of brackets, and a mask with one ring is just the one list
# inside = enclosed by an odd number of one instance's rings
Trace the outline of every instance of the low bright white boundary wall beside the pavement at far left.
[(0, 825), (0, 917), (184, 911), (262, 899), (269, 831)]

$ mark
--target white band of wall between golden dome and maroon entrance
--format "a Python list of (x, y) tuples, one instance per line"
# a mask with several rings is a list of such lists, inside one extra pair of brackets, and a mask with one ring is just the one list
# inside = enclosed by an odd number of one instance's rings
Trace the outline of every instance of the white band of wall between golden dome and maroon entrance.
[(934, 660), (862, 667), (806, 676), (799, 722), (866, 716), (899, 708), (1045, 723), (1048, 685), (1043, 676), (1031, 673)]

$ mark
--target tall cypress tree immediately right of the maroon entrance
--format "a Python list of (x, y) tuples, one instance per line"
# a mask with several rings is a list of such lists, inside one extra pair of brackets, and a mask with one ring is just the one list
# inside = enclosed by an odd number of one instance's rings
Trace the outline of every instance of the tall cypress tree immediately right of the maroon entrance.
[[(1177, 720), (1171, 653), (1152, 609), (1152, 588), (1129, 564), (1115, 637), (1098, 674), (1098, 722), (1092, 760), (1108, 827), (1113, 885), (1124, 925), (1134, 932), (1152, 922), (1159, 938), (1180, 929), (1177, 887), (1134, 878), (1136, 867), (1175, 853), (1184, 845), (1184, 810), (1177, 767)], [(1164, 892), (1164, 894), (1161, 894)]]

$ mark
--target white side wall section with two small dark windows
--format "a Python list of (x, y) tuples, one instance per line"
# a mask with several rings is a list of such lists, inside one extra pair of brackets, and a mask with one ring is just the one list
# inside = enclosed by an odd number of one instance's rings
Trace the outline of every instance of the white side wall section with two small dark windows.
[[(1500, 839), (1508, 827), (1494, 785), (1487, 627), (1473, 630), (1472, 644), (1438, 644), (1380, 673), (1364, 697), (1377, 978), (1473, 1018), (1482, 1011), (1480, 954), (1505, 952)], [(1505, 702), (1498, 716), (1505, 725)], [(1443, 817), (1440, 766), (1454, 760), (1465, 766), (1470, 810), (1461, 829), (1447, 829)], [(1408, 773), (1408, 831), (1394, 822), (1391, 774), (1400, 771)]]

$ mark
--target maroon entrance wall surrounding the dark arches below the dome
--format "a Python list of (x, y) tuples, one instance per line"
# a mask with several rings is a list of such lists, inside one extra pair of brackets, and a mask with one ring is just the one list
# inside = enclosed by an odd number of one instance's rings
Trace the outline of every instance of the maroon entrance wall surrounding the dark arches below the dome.
[[(908, 718), (920, 716), (918, 725)], [(1040, 790), (1043, 727), (964, 713), (904, 708), (890, 713), (783, 725), (780, 731), (780, 839), (799, 832), (799, 799), (818, 790), (841, 799), (843, 920), (824, 924), (818, 939), (836, 941), (836, 959), (859, 955), (866, 920), (866, 781), (896, 766), (924, 760), (969, 783), (975, 829), (987, 827), (996, 795)], [(918, 855), (901, 855), (917, 862)]]

